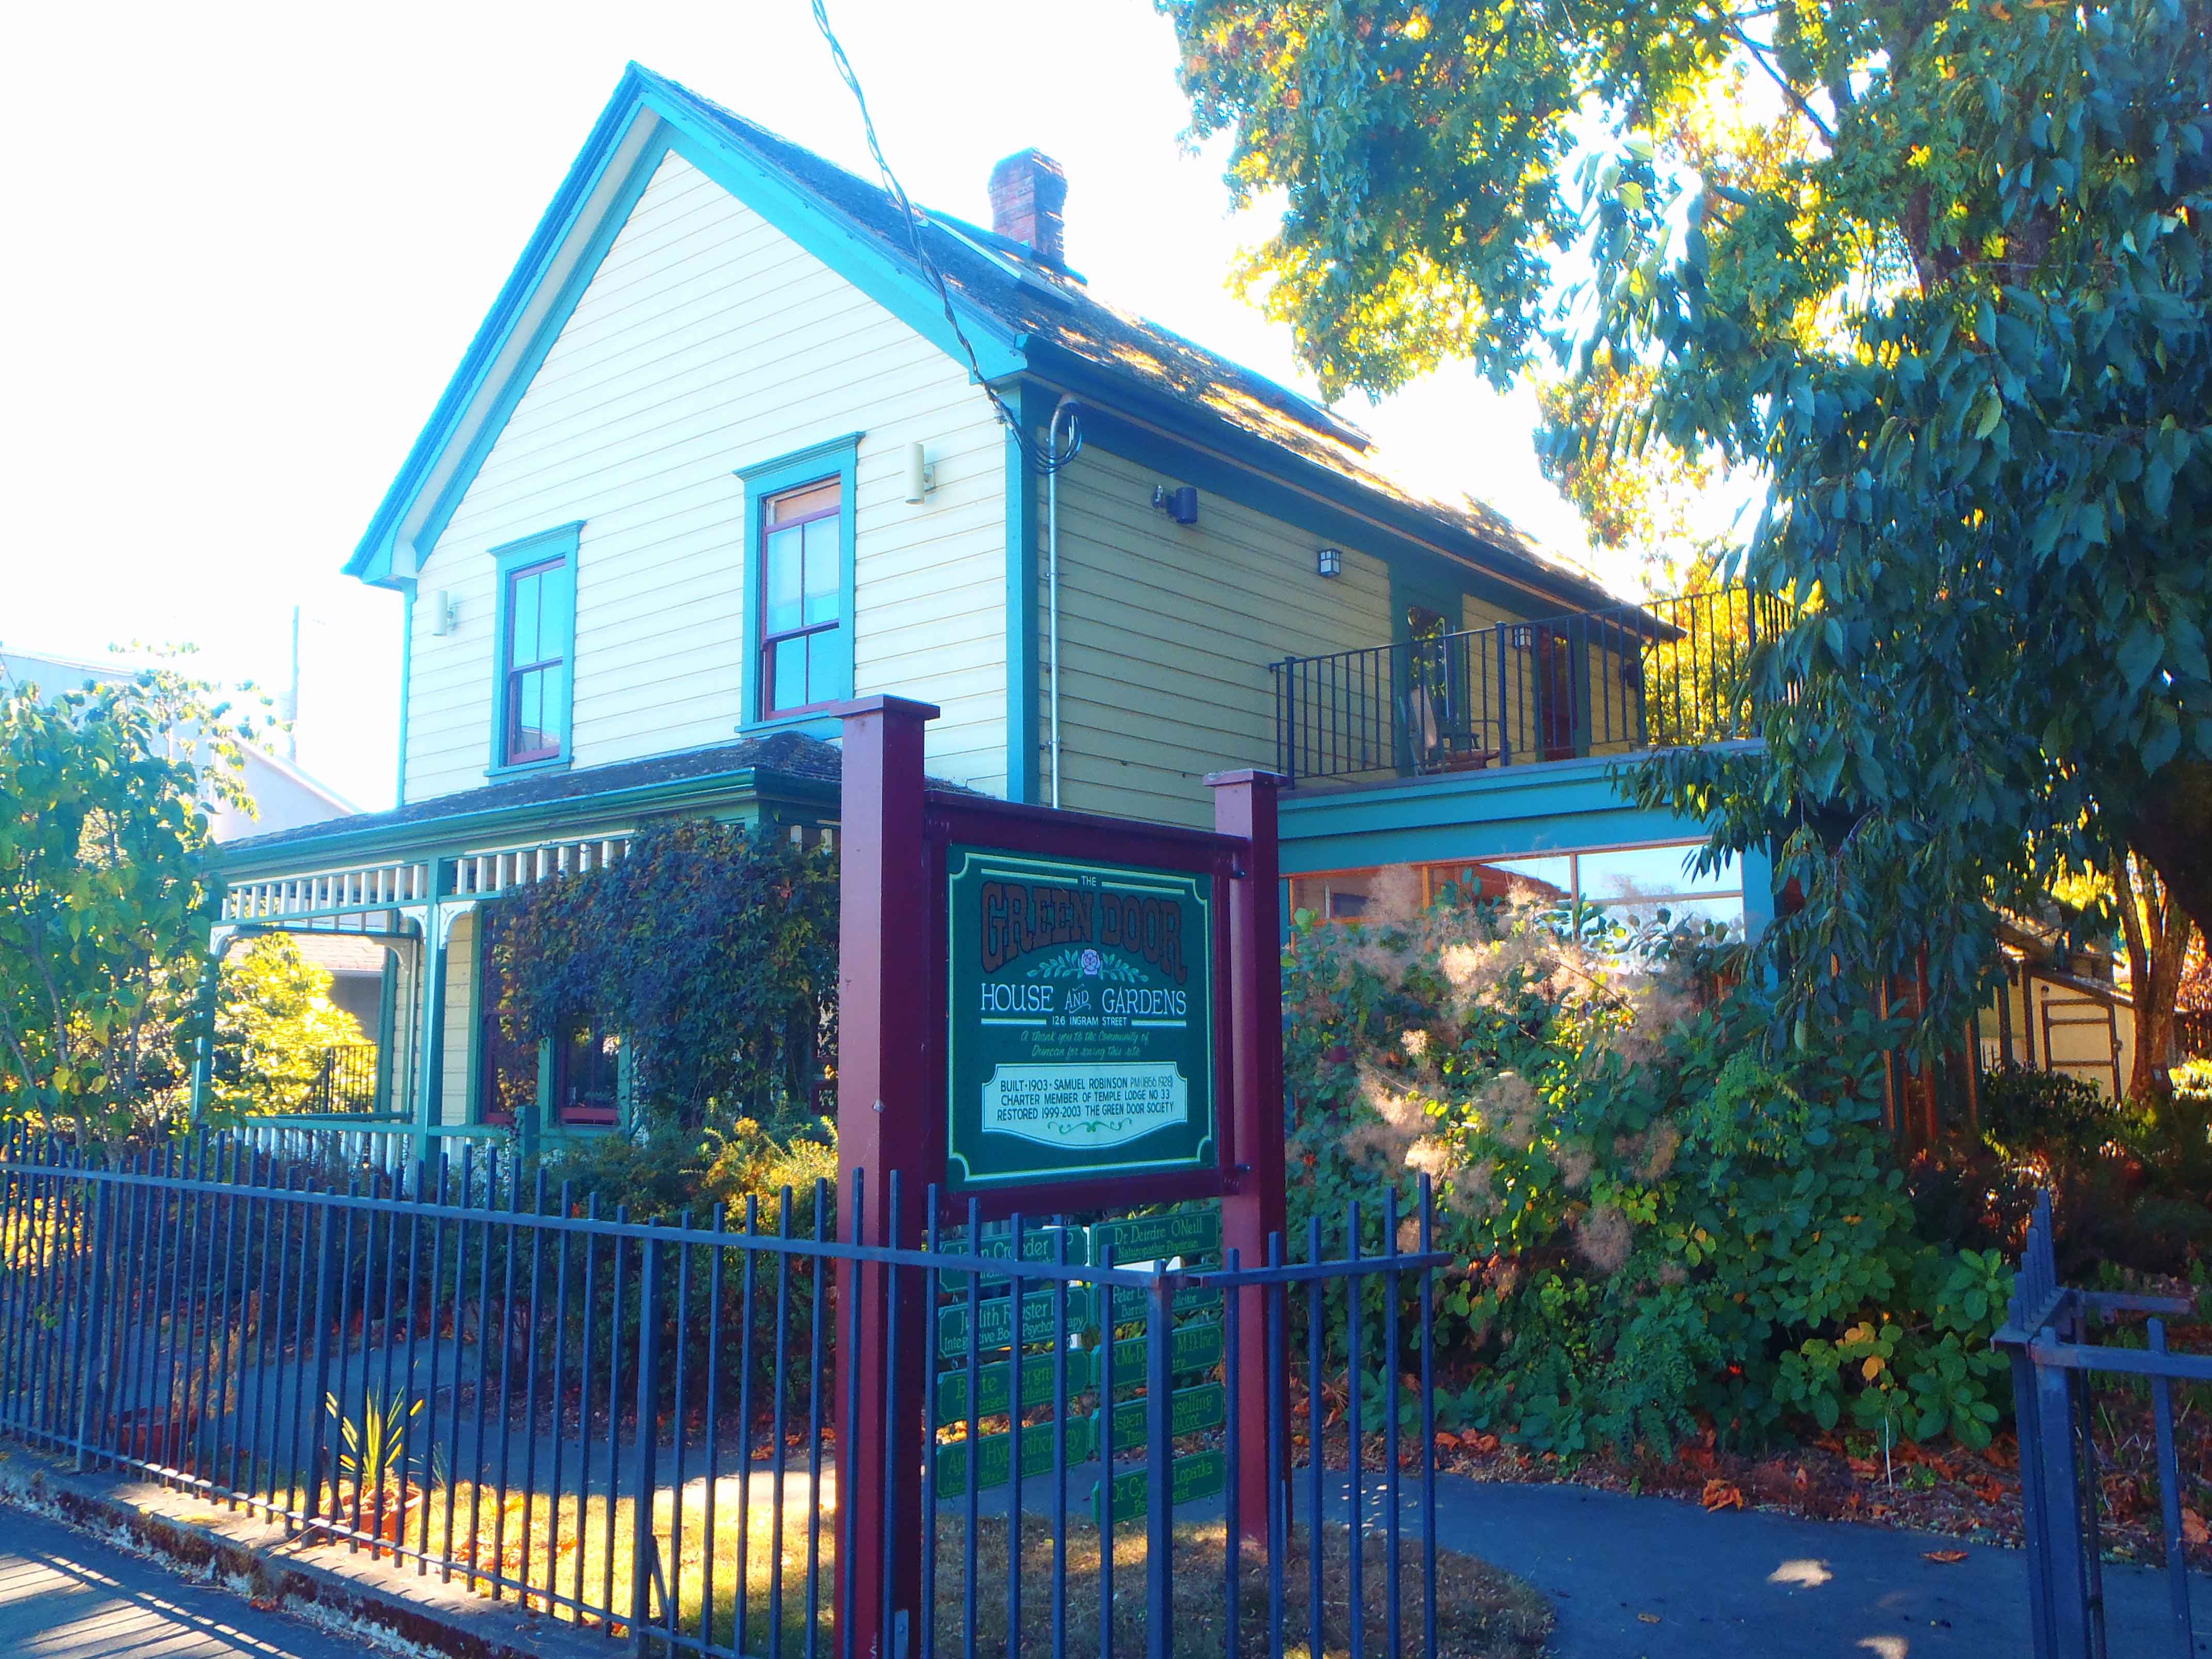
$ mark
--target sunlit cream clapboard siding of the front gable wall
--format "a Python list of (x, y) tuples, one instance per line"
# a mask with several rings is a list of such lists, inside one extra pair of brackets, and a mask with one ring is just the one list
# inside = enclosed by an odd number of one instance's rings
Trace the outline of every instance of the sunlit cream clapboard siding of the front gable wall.
[[(487, 553), (575, 520), (575, 763), (732, 741), (745, 681), (732, 469), (847, 431), (865, 434), (854, 688), (942, 706), (931, 772), (1004, 794), (1004, 440), (989, 403), (964, 365), (670, 155), (420, 573), (460, 624), (436, 637), (431, 606), (416, 606), (405, 799), (484, 783)], [(916, 440), (938, 478), (925, 507), (905, 502)]]

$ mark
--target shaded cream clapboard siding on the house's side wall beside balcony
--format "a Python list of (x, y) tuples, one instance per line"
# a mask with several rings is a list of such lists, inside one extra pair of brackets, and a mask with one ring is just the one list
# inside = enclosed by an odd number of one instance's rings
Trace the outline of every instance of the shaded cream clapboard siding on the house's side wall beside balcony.
[(1175, 524), (1161, 482), (1097, 447), (1060, 476), (1062, 805), (1210, 825), (1208, 772), (1276, 761), (1267, 664), (1387, 641), (1389, 568), (1323, 580), (1321, 538), (1212, 491)]

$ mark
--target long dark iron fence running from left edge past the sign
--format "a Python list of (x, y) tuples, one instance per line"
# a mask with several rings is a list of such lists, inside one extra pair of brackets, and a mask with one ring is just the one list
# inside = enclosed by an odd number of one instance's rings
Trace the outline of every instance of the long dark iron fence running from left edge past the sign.
[(641, 1225), (473, 1146), (336, 1190), (246, 1137), (97, 1168), (15, 1130), (0, 1429), (637, 1652), (818, 1659), (898, 1548), (836, 1469), (883, 1323), (920, 1455), (847, 1478), (925, 1520), (878, 1652), (1440, 1650), (1427, 1188), (1259, 1265), (1206, 1212), (947, 1230), (933, 1190), (929, 1248), (872, 1248), (863, 1199)]

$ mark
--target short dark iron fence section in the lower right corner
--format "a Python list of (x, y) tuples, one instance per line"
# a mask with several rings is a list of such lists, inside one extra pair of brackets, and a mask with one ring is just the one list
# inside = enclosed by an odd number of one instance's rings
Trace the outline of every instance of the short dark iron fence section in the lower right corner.
[[(2035, 1659), (2106, 1659), (2104, 1548), (2106, 1502), (2097, 1458), (2090, 1380), (2101, 1371), (2150, 1389), (2166, 1571), (2168, 1652), (2197, 1652), (2190, 1626), (2190, 1573), (2183, 1548), (2181, 1460), (2174, 1449), (2174, 1383), (2212, 1383), (2212, 1356), (2166, 1347), (2161, 1316), (2188, 1316), (2183, 1296), (2119, 1296), (2068, 1290), (2051, 1248), (2051, 1194), (2035, 1201), (2028, 1245), (1997, 1347), (2013, 1360), (2013, 1411), (2020, 1422), (2020, 1509), (2028, 1557), (2028, 1617)], [(2143, 1347), (2090, 1340), (2093, 1325), (2148, 1314)]]

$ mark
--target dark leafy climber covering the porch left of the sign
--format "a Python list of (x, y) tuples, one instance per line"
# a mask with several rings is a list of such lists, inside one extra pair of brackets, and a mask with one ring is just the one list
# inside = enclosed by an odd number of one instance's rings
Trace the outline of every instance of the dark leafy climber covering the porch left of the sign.
[(688, 1130), (812, 1119), (836, 1075), (836, 900), (825, 852), (650, 825), (622, 863), (500, 900), (500, 1020), (515, 1040), (619, 1031), (635, 1099)]

